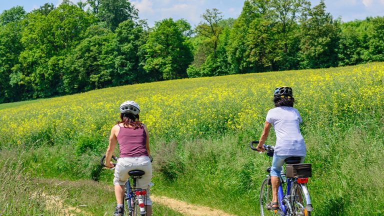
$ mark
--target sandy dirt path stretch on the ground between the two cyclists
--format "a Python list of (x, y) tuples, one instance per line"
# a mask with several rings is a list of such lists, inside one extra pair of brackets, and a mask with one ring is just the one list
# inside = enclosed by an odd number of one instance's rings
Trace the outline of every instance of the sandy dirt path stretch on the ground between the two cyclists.
[(150, 198), (154, 202), (168, 206), (169, 208), (172, 208), (173, 210), (188, 216), (189, 215), (191, 216), (208, 216), (208, 215), (209, 216), (211, 215), (234, 216), (233, 214), (228, 214), (222, 210), (217, 210), (214, 208), (200, 206), (200, 205), (194, 205), (194, 204), (190, 204), (184, 201), (180, 201), (180, 200), (165, 197), (165, 196), (151, 195)]

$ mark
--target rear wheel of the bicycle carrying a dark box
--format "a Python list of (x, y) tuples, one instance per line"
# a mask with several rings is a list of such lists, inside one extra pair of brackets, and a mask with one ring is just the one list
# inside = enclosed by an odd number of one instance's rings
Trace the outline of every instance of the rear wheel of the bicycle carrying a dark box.
[(292, 190), (292, 210), (293, 215), (310, 216), (310, 211), (306, 209), (306, 199), (303, 185), (295, 184)]

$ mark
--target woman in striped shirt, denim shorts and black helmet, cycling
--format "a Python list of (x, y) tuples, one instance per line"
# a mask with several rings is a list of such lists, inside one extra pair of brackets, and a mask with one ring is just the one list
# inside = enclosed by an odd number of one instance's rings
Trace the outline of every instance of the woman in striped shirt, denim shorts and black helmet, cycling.
[(274, 146), (270, 169), (272, 200), (266, 206), (269, 210), (278, 209), (277, 189), (280, 185), (279, 178), (284, 159), (299, 156), (302, 163), (306, 155), (305, 142), (299, 128), (302, 119), (297, 109), (293, 108), (292, 88), (287, 86), (277, 87), (273, 96), (275, 107), (269, 109), (266, 115), (264, 129), (257, 145), (258, 151), (264, 151), (262, 145), (268, 137), (270, 127), (273, 126), (276, 133), (276, 145)]

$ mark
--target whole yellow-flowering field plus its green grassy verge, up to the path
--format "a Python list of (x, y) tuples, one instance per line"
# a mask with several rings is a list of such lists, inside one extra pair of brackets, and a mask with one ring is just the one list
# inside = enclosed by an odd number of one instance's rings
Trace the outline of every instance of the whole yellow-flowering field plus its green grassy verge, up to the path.
[[(134, 99), (150, 132), (155, 193), (253, 214), (268, 160), (247, 143), (261, 133), (273, 88), (291, 85), (306, 161), (313, 166), (308, 186), (314, 214), (380, 215), (383, 80), (384, 63), (370, 63), (172, 80), (8, 104), (0, 109), (0, 149), (2, 158), (9, 149), (27, 149), (23, 167), (33, 176), (110, 181), (97, 160), (119, 103)], [(272, 131), (267, 142), (274, 141)]]

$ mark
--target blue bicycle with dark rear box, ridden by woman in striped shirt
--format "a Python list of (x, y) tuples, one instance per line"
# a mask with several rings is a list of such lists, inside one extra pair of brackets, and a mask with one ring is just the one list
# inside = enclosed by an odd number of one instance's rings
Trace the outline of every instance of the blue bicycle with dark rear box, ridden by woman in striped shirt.
[[(257, 150), (253, 144), (258, 141), (251, 141), (250, 148)], [(271, 158), (273, 156), (274, 148), (270, 145), (263, 144), (266, 154)], [(271, 163), (271, 159), (269, 162)], [(285, 159), (285, 169), (282, 169), (280, 174), (280, 185), (278, 187), (278, 202), (279, 209), (268, 210), (266, 204), (272, 199), (272, 185), (270, 180), (270, 166), (266, 168), (268, 174), (261, 183), (260, 188), (260, 213), (264, 215), (281, 215), (281, 216), (310, 216), (313, 210), (310, 202), (309, 191), (306, 183), (308, 177), (311, 177), (310, 163), (300, 163), (300, 157), (288, 157)], [(283, 184), (286, 183), (285, 190), (283, 191)]]

